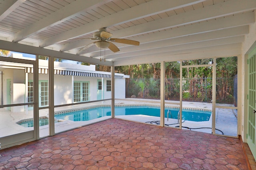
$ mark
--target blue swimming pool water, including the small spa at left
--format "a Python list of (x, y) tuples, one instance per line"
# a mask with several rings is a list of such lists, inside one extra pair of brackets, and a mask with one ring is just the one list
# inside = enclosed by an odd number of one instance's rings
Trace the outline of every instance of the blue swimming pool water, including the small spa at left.
[[(165, 117), (169, 119), (178, 119), (178, 108), (165, 108)], [(55, 123), (59, 121), (89, 121), (104, 116), (111, 116), (111, 107), (94, 107), (91, 109), (82, 109), (78, 111), (65, 111), (54, 114)], [(187, 121), (209, 121), (212, 112), (196, 109), (182, 109), (182, 120)], [(160, 107), (154, 106), (126, 106), (115, 107), (115, 115), (148, 115), (160, 117)], [(48, 125), (48, 117), (40, 117), (39, 125)], [(33, 119), (26, 119), (17, 122), (24, 127), (33, 127)]]

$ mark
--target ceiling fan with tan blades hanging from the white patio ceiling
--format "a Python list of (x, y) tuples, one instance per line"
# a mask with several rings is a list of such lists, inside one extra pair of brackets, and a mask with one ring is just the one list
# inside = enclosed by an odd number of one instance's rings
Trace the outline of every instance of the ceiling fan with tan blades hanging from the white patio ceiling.
[(98, 29), (97, 32), (93, 33), (93, 38), (90, 38), (98, 41), (95, 41), (93, 43), (86, 45), (85, 47), (82, 47), (79, 51), (84, 51), (89, 47), (91, 47), (92, 45), (96, 45), (96, 47), (100, 49), (108, 48), (114, 53), (120, 51), (120, 49), (118, 49), (118, 47), (116, 47), (116, 45), (114, 45), (112, 42), (129, 44), (129, 45), (140, 45), (139, 41), (133, 41), (130, 39), (111, 38), (112, 35), (113, 35), (112, 33), (109, 33), (106, 31), (106, 28), (100, 28)]

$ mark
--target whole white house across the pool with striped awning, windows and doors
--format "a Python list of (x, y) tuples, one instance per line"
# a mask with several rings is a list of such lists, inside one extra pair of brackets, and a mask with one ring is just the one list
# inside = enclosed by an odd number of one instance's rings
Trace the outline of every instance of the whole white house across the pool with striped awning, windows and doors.
[[(13, 58), (25, 59), (12, 53)], [(5, 65), (0, 61), (0, 65)], [(38, 61), (39, 107), (48, 105), (48, 61)], [(2, 69), (2, 102), (20, 104), (33, 100), (33, 68), (29, 64), (6, 65)], [(115, 73), (115, 98), (125, 98), (128, 75)], [(8, 85), (9, 83), (9, 85)], [(96, 71), (96, 66), (54, 61), (54, 105), (90, 102), (111, 98), (111, 73)], [(12, 112), (25, 111), (23, 106), (12, 107)], [(29, 108), (28, 108), (29, 109)]]

